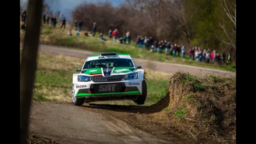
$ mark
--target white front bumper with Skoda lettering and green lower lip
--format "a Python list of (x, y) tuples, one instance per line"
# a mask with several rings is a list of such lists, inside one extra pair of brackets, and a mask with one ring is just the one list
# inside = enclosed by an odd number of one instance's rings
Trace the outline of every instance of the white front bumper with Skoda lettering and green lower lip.
[(132, 79), (117, 82), (73, 82), (77, 98), (114, 98), (142, 94), (142, 80)]

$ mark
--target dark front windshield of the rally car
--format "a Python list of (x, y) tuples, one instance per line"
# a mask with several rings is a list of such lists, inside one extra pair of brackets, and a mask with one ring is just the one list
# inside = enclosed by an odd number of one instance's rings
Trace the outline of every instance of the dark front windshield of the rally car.
[(132, 59), (127, 58), (104, 58), (85, 62), (84, 69), (96, 67), (134, 67)]

